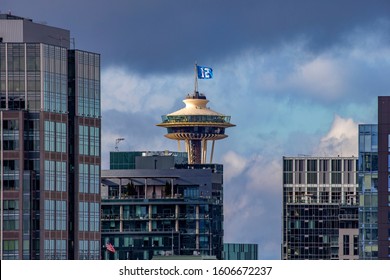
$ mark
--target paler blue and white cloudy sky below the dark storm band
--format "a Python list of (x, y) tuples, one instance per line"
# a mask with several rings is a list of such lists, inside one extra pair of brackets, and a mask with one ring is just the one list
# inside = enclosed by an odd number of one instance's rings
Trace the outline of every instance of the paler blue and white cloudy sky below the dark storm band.
[[(357, 155), (357, 123), (375, 119), (376, 93), (390, 88), (389, 79), (376, 74), (388, 73), (390, 63), (377, 66), (357, 55), (369, 55), (368, 48), (318, 54), (305, 44), (239, 52), (210, 65), (214, 79), (199, 81), (208, 105), (237, 125), (216, 143), (214, 155), (225, 170), (225, 241), (258, 243), (267, 259), (280, 257), (282, 156)], [(103, 141), (111, 141), (111, 149), (120, 136), (124, 150), (176, 150), (155, 124), (184, 106), (192, 69), (142, 75), (112, 66), (102, 78)]]

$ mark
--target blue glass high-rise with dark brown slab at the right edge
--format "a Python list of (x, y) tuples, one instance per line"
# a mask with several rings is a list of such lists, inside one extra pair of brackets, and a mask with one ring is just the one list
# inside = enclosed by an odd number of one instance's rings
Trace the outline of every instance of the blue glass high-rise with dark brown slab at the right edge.
[(390, 259), (390, 97), (378, 97), (378, 124), (359, 126), (360, 259)]

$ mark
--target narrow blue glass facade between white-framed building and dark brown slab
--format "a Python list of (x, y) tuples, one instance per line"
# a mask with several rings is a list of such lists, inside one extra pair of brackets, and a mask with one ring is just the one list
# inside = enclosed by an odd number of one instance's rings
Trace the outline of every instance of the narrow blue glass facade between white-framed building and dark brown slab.
[(378, 125), (359, 125), (359, 259), (378, 258)]

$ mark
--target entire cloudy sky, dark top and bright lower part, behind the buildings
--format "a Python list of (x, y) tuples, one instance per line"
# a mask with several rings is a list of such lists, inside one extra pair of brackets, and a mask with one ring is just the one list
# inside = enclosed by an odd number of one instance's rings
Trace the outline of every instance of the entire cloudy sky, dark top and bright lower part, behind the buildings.
[(225, 242), (280, 259), (283, 156), (357, 156), (358, 124), (390, 95), (388, 0), (0, 0), (0, 11), (68, 29), (101, 54), (102, 157), (177, 150), (155, 126), (199, 90), (236, 127), (224, 164)]

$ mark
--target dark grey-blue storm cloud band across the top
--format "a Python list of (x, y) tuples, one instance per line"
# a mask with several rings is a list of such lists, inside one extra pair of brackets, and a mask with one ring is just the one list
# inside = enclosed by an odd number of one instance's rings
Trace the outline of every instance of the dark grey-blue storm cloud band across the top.
[(351, 29), (390, 17), (387, 0), (5, 0), (0, 9), (68, 28), (76, 47), (101, 53), (103, 65), (139, 72), (214, 64), (294, 38), (320, 51)]

